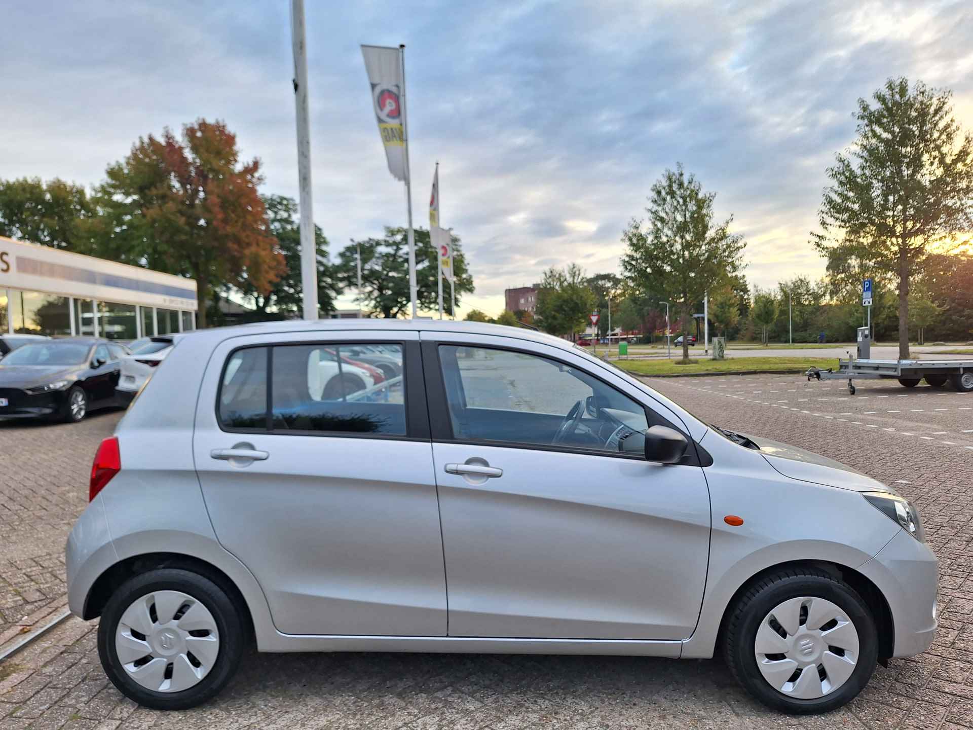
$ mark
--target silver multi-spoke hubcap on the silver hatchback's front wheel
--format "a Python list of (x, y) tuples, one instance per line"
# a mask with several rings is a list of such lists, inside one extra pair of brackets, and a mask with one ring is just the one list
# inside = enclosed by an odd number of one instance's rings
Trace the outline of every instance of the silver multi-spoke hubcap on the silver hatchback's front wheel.
[(757, 669), (788, 697), (814, 700), (834, 692), (858, 663), (858, 632), (836, 603), (806, 596), (779, 603), (754, 641)]

